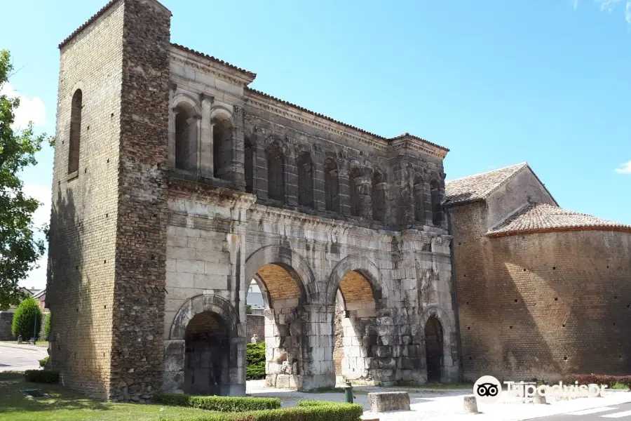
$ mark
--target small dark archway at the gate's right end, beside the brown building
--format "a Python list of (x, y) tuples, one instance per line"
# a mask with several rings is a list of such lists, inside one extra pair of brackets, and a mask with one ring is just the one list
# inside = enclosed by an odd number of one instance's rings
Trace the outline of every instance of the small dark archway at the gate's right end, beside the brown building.
[(428, 382), (458, 381), (456, 331), (454, 321), (440, 307), (423, 310), (420, 319), (425, 347), (426, 375)]

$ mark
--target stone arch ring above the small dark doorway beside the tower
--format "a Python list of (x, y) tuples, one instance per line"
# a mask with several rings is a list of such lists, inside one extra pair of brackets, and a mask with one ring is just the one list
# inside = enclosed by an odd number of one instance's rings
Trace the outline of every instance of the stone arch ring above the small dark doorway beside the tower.
[(220, 316), (226, 323), (231, 338), (245, 336), (240, 328), (239, 315), (230, 302), (218, 295), (196, 295), (179, 307), (169, 330), (170, 340), (183, 340), (186, 326), (196, 314), (212, 312)]

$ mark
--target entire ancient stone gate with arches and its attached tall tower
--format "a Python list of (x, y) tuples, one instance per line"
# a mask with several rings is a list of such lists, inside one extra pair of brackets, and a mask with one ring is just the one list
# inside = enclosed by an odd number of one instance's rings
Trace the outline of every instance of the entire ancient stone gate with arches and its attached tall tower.
[(47, 305), (62, 382), (114, 400), (245, 393), (245, 294), (266, 382), (457, 380), (447, 149), (384, 138), (170, 44), (114, 0), (60, 44)]

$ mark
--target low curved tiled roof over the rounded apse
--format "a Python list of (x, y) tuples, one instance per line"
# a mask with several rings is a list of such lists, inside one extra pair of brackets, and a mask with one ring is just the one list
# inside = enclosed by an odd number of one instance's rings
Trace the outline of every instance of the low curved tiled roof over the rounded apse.
[(631, 232), (631, 225), (604, 220), (586, 213), (578, 213), (545, 203), (527, 203), (491, 228), (487, 232), (487, 236), (496, 237), (574, 229)]

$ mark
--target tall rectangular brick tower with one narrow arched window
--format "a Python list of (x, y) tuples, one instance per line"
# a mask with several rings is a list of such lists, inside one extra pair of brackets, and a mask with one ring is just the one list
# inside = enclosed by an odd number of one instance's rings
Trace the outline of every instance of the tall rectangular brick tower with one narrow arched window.
[(60, 44), (50, 355), (113, 400), (162, 384), (170, 16), (110, 1)]

